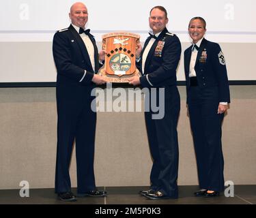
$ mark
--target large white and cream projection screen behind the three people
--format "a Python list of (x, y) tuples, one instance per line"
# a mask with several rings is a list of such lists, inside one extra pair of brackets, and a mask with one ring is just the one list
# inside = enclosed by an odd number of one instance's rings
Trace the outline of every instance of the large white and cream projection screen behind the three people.
[[(69, 0), (9, 0), (1, 2), (0, 84), (12, 82), (55, 82), (52, 55), (55, 31), (70, 25)], [(255, 0), (129, 0), (83, 1), (87, 5), (87, 29), (101, 49), (102, 35), (128, 31), (141, 35), (142, 44), (150, 31), (149, 12), (162, 5), (167, 9), (167, 28), (182, 42), (177, 80), (184, 80), (183, 52), (190, 46), (188, 22), (202, 16), (207, 22), (205, 38), (218, 42), (227, 61), (230, 81), (255, 81)]]

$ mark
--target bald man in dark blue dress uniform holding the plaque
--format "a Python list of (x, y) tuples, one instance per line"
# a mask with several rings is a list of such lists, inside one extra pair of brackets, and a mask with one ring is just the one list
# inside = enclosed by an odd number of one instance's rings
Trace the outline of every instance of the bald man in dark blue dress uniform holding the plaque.
[(70, 8), (72, 24), (57, 31), (53, 38), (53, 57), (57, 67), (57, 161), (55, 193), (60, 200), (75, 201), (70, 184), (70, 159), (76, 140), (76, 172), (78, 196), (106, 196), (106, 191), (96, 189), (94, 179), (94, 141), (96, 112), (91, 110), (91, 90), (95, 84), (105, 83), (95, 74), (99, 59), (94, 36), (85, 30), (87, 7), (74, 3)]

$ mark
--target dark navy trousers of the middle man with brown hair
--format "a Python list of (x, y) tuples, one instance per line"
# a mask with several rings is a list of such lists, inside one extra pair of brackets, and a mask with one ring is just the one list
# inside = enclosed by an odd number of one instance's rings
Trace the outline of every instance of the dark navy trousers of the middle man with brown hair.
[(177, 198), (177, 120), (180, 114), (180, 94), (177, 87), (165, 87), (165, 116), (162, 119), (152, 119), (153, 114), (156, 113), (145, 112), (147, 137), (153, 158), (151, 188)]

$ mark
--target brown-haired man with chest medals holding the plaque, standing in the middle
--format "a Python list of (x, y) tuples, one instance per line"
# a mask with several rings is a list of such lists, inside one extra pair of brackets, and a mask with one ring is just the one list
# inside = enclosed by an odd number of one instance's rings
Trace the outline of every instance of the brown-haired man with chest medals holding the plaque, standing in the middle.
[[(150, 11), (150, 28), (154, 35), (137, 50), (137, 67), (142, 76), (129, 79), (133, 85), (165, 91), (165, 115), (162, 119), (152, 119), (154, 111), (145, 112), (147, 137), (153, 166), (150, 174), (149, 190), (140, 191), (142, 196), (157, 200), (177, 198), (178, 142), (177, 120), (180, 114), (180, 94), (177, 90), (176, 68), (180, 61), (181, 44), (178, 37), (166, 28), (168, 23), (165, 7), (156, 6)], [(150, 94), (151, 95), (151, 94)], [(151, 96), (150, 96), (151, 99)], [(159, 96), (156, 95), (156, 102)]]

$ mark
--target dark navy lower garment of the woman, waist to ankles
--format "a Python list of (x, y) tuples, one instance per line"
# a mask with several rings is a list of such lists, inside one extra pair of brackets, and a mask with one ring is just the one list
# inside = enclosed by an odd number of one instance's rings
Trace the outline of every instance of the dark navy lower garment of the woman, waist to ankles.
[(193, 132), (197, 171), (201, 189), (223, 191), (224, 159), (221, 125), (224, 114), (218, 114), (218, 87), (188, 89), (188, 112)]

